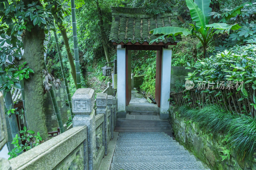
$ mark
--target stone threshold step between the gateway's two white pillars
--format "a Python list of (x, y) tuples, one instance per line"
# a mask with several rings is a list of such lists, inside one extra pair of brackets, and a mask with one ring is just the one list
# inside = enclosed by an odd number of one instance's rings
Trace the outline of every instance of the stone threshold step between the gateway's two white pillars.
[(151, 112), (159, 113), (159, 107), (157, 105), (152, 105), (151, 103), (141, 103), (141, 104), (129, 104), (126, 107), (128, 112)]

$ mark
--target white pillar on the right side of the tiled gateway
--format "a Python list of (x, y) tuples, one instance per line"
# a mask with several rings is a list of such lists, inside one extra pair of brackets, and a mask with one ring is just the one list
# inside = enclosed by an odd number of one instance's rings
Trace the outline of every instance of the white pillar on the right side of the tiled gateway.
[(171, 86), (171, 65), (172, 65), (172, 48), (163, 48), (162, 53), (162, 78), (161, 78), (161, 100), (160, 100), (160, 119), (169, 117), (169, 98)]

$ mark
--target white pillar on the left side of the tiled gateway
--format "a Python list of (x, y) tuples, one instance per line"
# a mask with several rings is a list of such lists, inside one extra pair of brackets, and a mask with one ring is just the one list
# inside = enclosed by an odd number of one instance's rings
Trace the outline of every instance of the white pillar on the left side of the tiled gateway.
[(117, 45), (117, 117), (126, 117), (125, 48)]

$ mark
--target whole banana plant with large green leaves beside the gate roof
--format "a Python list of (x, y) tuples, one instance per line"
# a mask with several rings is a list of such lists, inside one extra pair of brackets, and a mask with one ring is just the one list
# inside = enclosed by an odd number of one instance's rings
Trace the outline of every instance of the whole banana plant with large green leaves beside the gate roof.
[[(165, 37), (172, 36), (174, 41), (176, 40), (175, 36), (177, 35), (195, 35), (203, 45), (203, 58), (206, 54), (206, 49), (209, 44), (213, 41), (212, 36), (214, 34), (223, 34), (224, 32), (229, 33), (230, 30), (237, 30), (241, 28), (238, 24), (228, 25), (226, 23), (212, 23), (209, 24), (211, 19), (212, 9), (209, 7), (211, 0), (186, 0), (186, 4), (190, 11), (190, 16), (192, 20), (196, 23), (189, 24), (192, 26), (191, 30), (187, 30), (180, 27), (167, 26), (160, 27), (150, 31), (154, 35), (160, 35), (158, 38), (150, 41), (152, 44), (155, 41), (164, 40)], [(199, 33), (199, 35), (198, 35)]]

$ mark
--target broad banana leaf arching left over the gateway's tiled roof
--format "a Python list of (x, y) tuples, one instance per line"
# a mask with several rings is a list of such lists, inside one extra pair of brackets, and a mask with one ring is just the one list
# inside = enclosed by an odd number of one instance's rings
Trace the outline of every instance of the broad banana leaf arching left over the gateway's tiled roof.
[(184, 28), (180, 28), (180, 27), (175, 27), (175, 26), (166, 26), (166, 27), (160, 27), (160, 28), (156, 28), (150, 31), (150, 33), (153, 33), (154, 35), (158, 34), (158, 35), (162, 35), (160, 37), (157, 37), (156, 39), (150, 41), (149, 44), (152, 44), (153, 42), (157, 41), (157, 40), (164, 40), (164, 37), (167, 36), (172, 36), (173, 40), (175, 41), (176, 38), (175, 36), (177, 35), (189, 35), (191, 34), (191, 32), (187, 29)]

